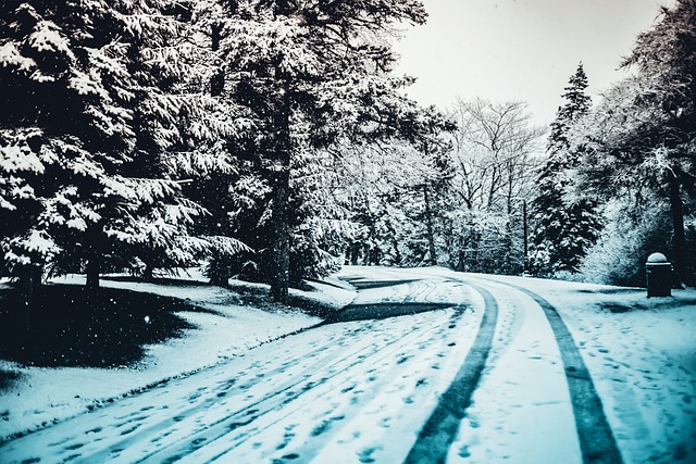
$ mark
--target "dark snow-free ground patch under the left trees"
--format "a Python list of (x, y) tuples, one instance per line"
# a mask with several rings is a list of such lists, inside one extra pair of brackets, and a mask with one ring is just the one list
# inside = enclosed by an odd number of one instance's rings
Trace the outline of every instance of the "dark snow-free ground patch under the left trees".
[(132, 365), (145, 346), (194, 325), (177, 311), (210, 311), (183, 300), (123, 289), (42, 286), (24, 330), (18, 292), (0, 289), (0, 358), (42, 367)]

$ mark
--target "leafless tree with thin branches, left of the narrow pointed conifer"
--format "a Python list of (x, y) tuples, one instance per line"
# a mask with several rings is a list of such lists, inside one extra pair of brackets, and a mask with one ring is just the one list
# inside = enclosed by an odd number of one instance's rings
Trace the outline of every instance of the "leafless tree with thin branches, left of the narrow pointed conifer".
[(522, 253), (511, 251), (521, 249), (512, 241), (521, 241), (523, 233), (520, 227), (517, 234), (513, 223), (534, 189), (545, 129), (533, 124), (527, 104), (520, 101), (459, 99), (450, 117), (458, 124), (451, 135), (452, 196), (463, 206), (452, 214), (450, 264), (514, 272)]

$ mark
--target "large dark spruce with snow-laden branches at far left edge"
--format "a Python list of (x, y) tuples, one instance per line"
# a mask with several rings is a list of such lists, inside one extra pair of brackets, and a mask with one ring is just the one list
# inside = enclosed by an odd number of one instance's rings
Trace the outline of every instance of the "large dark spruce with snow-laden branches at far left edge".
[[(142, 259), (188, 262), (201, 209), (167, 156), (189, 96), (185, 35), (162, 1), (11, 1), (0, 21), (2, 249), (52, 272)], [(190, 108), (189, 108), (189, 111)], [(174, 156), (173, 156), (174, 158)], [(4, 233), (9, 230), (9, 233)]]

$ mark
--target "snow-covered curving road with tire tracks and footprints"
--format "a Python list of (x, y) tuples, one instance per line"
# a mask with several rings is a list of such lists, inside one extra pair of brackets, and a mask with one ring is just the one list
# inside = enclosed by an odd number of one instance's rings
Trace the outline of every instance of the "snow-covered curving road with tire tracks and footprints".
[(655, 404), (637, 377), (616, 387), (583, 338), (608, 337), (606, 314), (569, 314), (535, 280), (341, 277), (361, 291), (326, 324), (0, 443), (0, 462), (694, 462), (693, 375), (650, 366), (668, 377)]

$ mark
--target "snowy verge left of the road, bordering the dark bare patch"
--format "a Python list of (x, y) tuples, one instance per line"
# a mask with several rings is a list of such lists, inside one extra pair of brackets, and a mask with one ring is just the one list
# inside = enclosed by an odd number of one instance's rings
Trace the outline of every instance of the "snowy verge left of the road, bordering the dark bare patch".
[[(197, 284), (202, 277), (194, 274), (190, 279), (191, 284)], [(84, 277), (67, 276), (53, 281), (84, 285)], [(234, 291), (221, 287), (108, 279), (103, 279), (101, 285), (188, 300), (211, 313), (177, 312), (179, 317), (197, 328), (185, 330), (181, 338), (147, 347), (146, 356), (132, 366), (32, 367), (0, 359), (0, 371), (16, 374), (16, 379), (10, 380), (10, 385), (0, 390), (0, 441), (244, 355), (260, 344), (321, 323), (319, 317), (299, 310), (240, 305)], [(235, 285), (263, 287), (234, 280), (232, 285), (233, 288)], [(335, 309), (349, 304), (356, 294), (349, 285), (332, 278), (326, 279), (325, 284), (311, 283), (310, 286), (312, 291), (293, 289), (290, 292), (302, 300)], [(148, 323), (142, 321), (142, 324)]]

